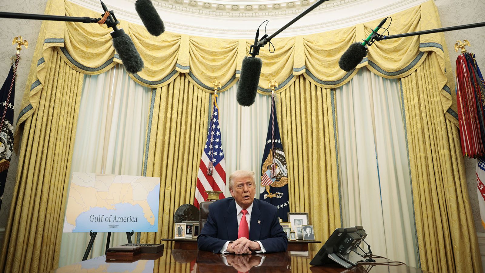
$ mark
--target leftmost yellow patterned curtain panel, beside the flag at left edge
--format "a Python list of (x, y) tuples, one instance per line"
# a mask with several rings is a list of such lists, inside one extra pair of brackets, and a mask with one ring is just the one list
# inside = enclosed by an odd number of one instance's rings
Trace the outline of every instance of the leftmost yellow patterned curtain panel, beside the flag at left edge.
[(44, 272), (59, 261), (83, 74), (55, 50), (49, 60), (37, 110), (24, 122), (0, 260), (6, 273)]

